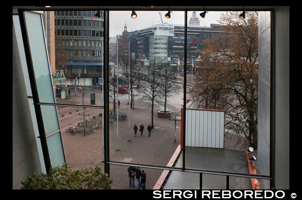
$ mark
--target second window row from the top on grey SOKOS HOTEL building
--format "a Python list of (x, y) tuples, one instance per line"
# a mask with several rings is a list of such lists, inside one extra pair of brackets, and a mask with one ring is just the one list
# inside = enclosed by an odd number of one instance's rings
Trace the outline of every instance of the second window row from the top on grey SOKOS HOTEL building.
[(55, 34), (60, 36), (104, 37), (103, 31), (94, 31), (94, 30), (56, 29)]

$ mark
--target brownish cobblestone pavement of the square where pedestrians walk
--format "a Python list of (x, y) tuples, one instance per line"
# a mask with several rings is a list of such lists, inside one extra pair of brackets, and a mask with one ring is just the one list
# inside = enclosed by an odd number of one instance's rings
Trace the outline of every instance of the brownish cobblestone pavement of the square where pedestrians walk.
[[(90, 105), (90, 91), (87, 91), (84, 97), (85, 105)], [(128, 96), (127, 94), (124, 94)], [(96, 93), (96, 106), (102, 105), (102, 99), (99, 93)], [(148, 137), (147, 126), (151, 124), (151, 107), (144, 102), (139, 102), (135, 99), (135, 109), (130, 108), (130, 131), (128, 122), (128, 98), (122, 98), (120, 95), (119, 113), (127, 115), (127, 120), (119, 120), (119, 136), (117, 140), (117, 121), (110, 122), (109, 125), (109, 156), (110, 161), (129, 162), (135, 164), (159, 165), (166, 166), (180, 144), (180, 121), (177, 121), (176, 128), (176, 143), (175, 138), (175, 123), (169, 119), (159, 118), (157, 116), (157, 108), (154, 109), (154, 129), (151, 136)], [(65, 101), (66, 99), (64, 99)], [(61, 101), (61, 100), (60, 100)], [(82, 105), (82, 93), (71, 92), (71, 98), (65, 104)], [(110, 104), (112, 108), (112, 104)], [(78, 110), (78, 111), (77, 111)], [(102, 120), (100, 113), (103, 109), (86, 109), (85, 119), (92, 119), (95, 116)], [(60, 126), (62, 130), (62, 140), (66, 162), (73, 169), (94, 167), (101, 165), (104, 171), (103, 160), (103, 140), (102, 127), (97, 128), (92, 134), (65, 132), (68, 126), (77, 126), (78, 122), (83, 121), (83, 109), (74, 107), (58, 108)], [(81, 115), (79, 115), (81, 114)], [(63, 117), (62, 117), (63, 115)], [(143, 124), (145, 130), (143, 135), (137, 131), (134, 137), (133, 126), (138, 127)], [(130, 141), (129, 140), (130, 136)], [(118, 145), (118, 150), (117, 150)], [(110, 178), (113, 179), (113, 189), (135, 189), (129, 187), (129, 177), (127, 172), (128, 166), (110, 165)], [(152, 189), (163, 170), (141, 168), (147, 174), (146, 188)], [(135, 185), (137, 185), (135, 180)]]

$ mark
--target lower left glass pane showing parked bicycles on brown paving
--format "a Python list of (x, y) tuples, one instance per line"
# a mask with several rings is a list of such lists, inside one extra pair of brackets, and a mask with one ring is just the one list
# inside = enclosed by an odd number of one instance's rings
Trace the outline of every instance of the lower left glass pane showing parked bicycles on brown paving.
[[(72, 104), (72, 101), (67, 104)], [(95, 167), (97, 164), (104, 167), (103, 109), (62, 106), (57, 109), (68, 165), (72, 169)]]

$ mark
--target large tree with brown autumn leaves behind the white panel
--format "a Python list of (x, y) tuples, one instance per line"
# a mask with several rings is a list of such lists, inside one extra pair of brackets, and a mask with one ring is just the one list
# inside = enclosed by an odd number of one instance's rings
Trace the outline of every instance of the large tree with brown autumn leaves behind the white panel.
[(225, 127), (257, 149), (258, 14), (221, 15), (225, 33), (205, 40), (190, 93), (206, 108), (225, 110)]

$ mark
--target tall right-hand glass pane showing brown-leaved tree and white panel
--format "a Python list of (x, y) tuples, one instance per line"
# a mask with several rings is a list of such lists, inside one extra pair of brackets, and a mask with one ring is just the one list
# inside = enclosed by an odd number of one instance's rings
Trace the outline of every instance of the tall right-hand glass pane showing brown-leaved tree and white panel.
[(258, 13), (188, 12), (186, 168), (269, 175), (270, 139), (257, 134)]

